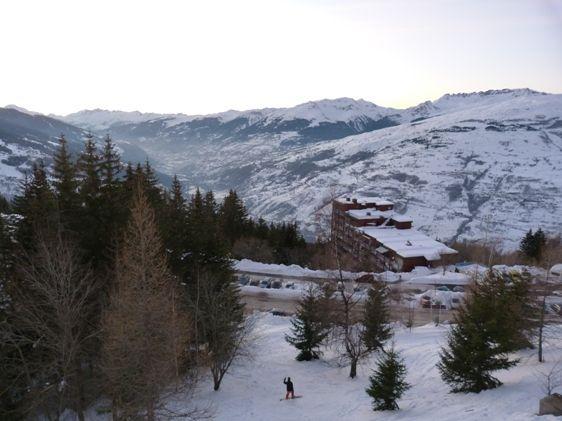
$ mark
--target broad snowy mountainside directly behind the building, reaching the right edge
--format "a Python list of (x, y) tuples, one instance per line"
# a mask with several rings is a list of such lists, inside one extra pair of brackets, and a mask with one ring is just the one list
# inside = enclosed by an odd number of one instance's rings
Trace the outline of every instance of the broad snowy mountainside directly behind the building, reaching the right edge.
[(458, 107), (273, 162), (244, 184), (258, 214), (312, 224), (331, 196), (355, 191), (390, 198), (441, 239), (514, 247), (529, 228), (562, 232), (562, 95)]

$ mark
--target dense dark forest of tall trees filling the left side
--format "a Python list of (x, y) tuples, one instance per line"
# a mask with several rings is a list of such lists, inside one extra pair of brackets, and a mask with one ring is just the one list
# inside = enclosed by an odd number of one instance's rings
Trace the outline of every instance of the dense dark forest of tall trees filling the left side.
[(289, 262), (305, 242), (296, 224), (250, 218), (233, 190), (184, 191), (148, 161), (123, 166), (109, 136), (75, 157), (61, 135), (52, 173), (35, 163), (0, 200), (1, 418), (83, 420), (103, 396), (115, 419), (156, 419), (204, 370), (220, 388), (251, 331), (232, 257), (261, 242)]

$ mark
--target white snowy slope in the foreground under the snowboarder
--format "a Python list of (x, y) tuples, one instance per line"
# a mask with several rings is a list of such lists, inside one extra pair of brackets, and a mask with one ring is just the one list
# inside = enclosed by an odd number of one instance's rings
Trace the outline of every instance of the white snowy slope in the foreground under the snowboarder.
[[(548, 345), (544, 364), (536, 361), (535, 351), (521, 352), (518, 366), (498, 373), (504, 382), (500, 388), (479, 394), (450, 394), (435, 367), (447, 327), (428, 325), (412, 332), (398, 328), (396, 348), (405, 358), (407, 381), (413, 387), (399, 401), (399, 411), (373, 412), (365, 388), (375, 365), (374, 358), (359, 367), (354, 380), (347, 377), (349, 367), (337, 366), (331, 350), (326, 350), (323, 360), (297, 362), (294, 348), (284, 340), (289, 326), (289, 318), (259, 314), (254, 359), (235, 364), (220, 391), (213, 392), (207, 380), (196, 399), (187, 401), (180, 397), (177, 407), (186, 402), (205, 407), (211, 402), (217, 421), (557, 419), (538, 417), (536, 413), (543, 396), (538, 372), (549, 370), (553, 361), (560, 358), (560, 339)], [(303, 398), (279, 400), (284, 396), (282, 380), (287, 376), (293, 380), (296, 394)]]

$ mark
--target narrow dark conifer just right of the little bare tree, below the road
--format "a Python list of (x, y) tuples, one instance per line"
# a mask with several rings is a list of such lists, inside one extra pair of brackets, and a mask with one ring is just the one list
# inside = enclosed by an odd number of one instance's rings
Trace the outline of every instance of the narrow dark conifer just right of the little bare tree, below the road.
[(375, 282), (369, 289), (363, 316), (363, 342), (369, 350), (382, 349), (392, 337), (390, 310), (388, 308), (388, 288), (382, 282)]

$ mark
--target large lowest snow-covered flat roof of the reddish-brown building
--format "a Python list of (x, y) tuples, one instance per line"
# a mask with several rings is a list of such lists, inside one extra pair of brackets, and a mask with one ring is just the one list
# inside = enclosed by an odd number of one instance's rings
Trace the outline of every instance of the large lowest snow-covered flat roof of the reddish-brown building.
[(359, 227), (364, 234), (376, 239), (400, 257), (424, 257), (427, 261), (439, 260), (443, 254), (457, 252), (421, 232), (394, 227)]

